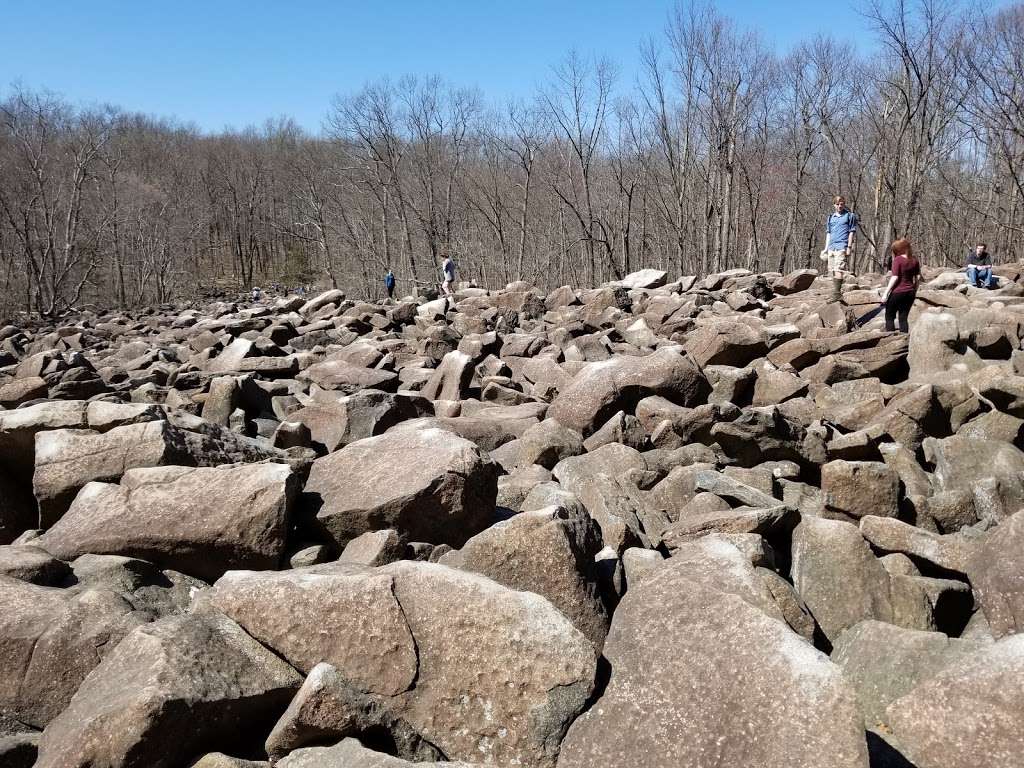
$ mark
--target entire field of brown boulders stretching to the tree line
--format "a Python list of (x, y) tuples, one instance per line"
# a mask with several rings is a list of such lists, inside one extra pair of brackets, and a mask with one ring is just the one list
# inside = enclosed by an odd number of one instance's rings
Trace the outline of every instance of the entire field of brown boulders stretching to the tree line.
[(1019, 764), (996, 271), (3, 328), (0, 765)]

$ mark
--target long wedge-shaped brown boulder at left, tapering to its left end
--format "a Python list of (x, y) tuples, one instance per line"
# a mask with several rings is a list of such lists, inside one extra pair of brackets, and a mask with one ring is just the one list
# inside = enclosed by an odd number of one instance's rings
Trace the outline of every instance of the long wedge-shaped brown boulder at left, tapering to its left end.
[(274, 568), (298, 482), (284, 464), (132, 469), (119, 485), (90, 482), (34, 543), (62, 560), (139, 557), (206, 581)]

